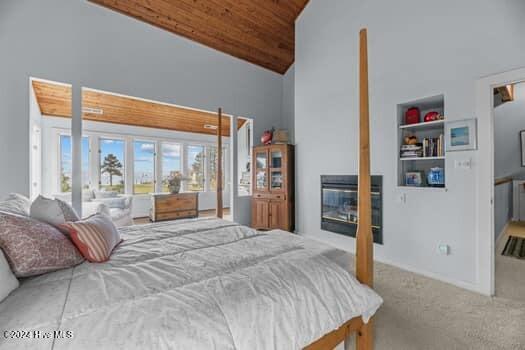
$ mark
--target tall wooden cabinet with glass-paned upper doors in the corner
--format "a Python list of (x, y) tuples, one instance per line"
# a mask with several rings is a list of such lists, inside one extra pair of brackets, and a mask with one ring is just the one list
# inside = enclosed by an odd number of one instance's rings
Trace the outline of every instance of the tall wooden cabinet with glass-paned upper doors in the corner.
[(254, 147), (252, 227), (294, 230), (294, 147)]

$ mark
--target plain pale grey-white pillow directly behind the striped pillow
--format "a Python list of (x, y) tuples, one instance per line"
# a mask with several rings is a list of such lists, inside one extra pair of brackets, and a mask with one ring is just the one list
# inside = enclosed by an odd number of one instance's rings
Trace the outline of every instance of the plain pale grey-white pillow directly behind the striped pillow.
[(31, 204), (30, 216), (57, 228), (70, 221), (80, 220), (73, 207), (60, 199), (38, 196)]

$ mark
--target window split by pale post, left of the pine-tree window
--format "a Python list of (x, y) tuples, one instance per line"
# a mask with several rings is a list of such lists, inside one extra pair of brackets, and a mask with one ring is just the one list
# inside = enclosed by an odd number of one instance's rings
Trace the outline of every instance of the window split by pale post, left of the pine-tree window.
[[(82, 137), (82, 188), (89, 188), (89, 137)], [(71, 192), (72, 145), (70, 135), (60, 135), (60, 192)]]

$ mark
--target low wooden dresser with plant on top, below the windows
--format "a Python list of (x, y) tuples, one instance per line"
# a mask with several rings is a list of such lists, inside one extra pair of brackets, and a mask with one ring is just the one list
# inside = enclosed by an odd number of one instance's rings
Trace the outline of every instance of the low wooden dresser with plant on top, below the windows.
[(199, 194), (192, 193), (153, 193), (151, 195), (150, 220), (164, 221), (199, 216)]

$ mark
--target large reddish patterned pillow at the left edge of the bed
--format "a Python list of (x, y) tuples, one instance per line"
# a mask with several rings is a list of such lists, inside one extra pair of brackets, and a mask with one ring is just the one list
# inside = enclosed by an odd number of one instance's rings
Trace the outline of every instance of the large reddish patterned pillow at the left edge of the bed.
[(0, 248), (17, 277), (80, 264), (84, 259), (55, 227), (30, 217), (0, 212)]

